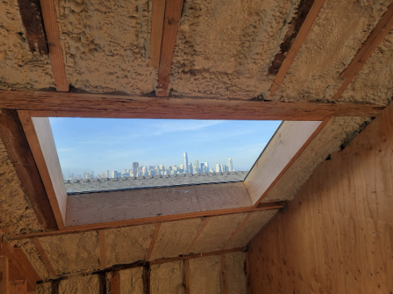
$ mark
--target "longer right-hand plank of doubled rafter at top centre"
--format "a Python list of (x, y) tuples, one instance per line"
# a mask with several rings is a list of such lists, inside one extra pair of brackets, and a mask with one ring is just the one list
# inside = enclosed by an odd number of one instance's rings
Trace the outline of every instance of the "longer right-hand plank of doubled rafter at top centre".
[(182, 13), (183, 0), (166, 0), (161, 44), (160, 68), (158, 68), (157, 96), (168, 96), (169, 75), (175, 51), (177, 27)]

